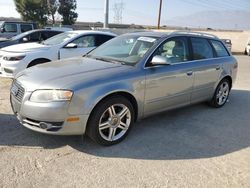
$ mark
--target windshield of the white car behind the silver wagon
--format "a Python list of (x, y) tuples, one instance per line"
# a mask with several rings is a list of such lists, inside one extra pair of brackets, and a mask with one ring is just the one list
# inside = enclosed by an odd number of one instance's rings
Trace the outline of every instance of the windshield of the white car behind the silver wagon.
[(56, 35), (54, 37), (51, 37), (43, 42), (45, 45), (58, 45), (62, 44), (65, 41), (68, 41), (71, 38), (74, 38), (77, 36), (78, 33), (73, 33), (73, 32), (66, 32), (66, 33), (61, 33), (59, 35)]

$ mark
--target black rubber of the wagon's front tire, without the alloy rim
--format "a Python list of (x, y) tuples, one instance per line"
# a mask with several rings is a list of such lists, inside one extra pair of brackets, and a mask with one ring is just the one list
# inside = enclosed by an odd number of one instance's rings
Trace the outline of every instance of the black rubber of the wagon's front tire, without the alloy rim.
[[(115, 141), (107, 141), (107, 140), (103, 139), (99, 133), (99, 120), (100, 120), (102, 114), (104, 113), (104, 111), (107, 110), (107, 108), (109, 108), (111, 105), (114, 105), (114, 104), (123, 104), (129, 108), (130, 113), (131, 113), (131, 123), (130, 123), (130, 126), (129, 126), (127, 132), (120, 139), (115, 140)], [(101, 144), (104, 146), (110, 146), (110, 145), (117, 144), (117, 143), (121, 142), (122, 140), (124, 140), (126, 138), (126, 136), (128, 135), (128, 133), (130, 132), (130, 130), (133, 126), (133, 123), (134, 123), (134, 118), (135, 118), (135, 113), (134, 113), (133, 105), (125, 97), (114, 96), (114, 97), (107, 98), (104, 101), (102, 101), (101, 103), (99, 103), (94, 108), (93, 113), (91, 113), (91, 116), (90, 116), (90, 119), (89, 119), (88, 125), (87, 125), (87, 135), (92, 140), (97, 142), (98, 144)]]

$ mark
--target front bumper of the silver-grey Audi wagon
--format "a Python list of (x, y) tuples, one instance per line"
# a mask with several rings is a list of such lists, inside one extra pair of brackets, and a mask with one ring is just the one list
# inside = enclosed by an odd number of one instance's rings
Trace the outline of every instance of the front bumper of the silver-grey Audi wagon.
[[(31, 92), (23, 97), (11, 91), (11, 107), (20, 123), (33, 131), (51, 135), (82, 135), (89, 115), (68, 113), (69, 102), (34, 103), (29, 101)], [(68, 118), (77, 118), (69, 122)]]

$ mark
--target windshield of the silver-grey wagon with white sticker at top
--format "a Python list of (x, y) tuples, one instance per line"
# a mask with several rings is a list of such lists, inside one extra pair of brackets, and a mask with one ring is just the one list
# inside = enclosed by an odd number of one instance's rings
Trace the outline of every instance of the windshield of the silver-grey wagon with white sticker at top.
[(135, 65), (157, 38), (125, 35), (116, 37), (90, 52), (87, 57)]

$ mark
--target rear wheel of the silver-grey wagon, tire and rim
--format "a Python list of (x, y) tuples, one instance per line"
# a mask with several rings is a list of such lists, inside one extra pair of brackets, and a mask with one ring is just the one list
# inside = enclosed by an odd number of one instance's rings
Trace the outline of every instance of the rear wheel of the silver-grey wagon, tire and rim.
[(218, 84), (212, 100), (209, 102), (210, 106), (220, 108), (224, 106), (228, 100), (231, 84), (228, 79), (223, 79)]

